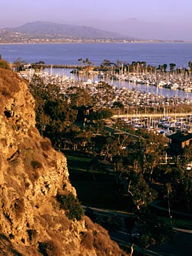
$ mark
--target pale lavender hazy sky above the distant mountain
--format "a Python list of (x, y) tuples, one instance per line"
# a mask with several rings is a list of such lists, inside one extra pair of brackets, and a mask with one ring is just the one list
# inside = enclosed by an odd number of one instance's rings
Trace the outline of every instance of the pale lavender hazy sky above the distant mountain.
[(48, 21), (192, 42), (192, 0), (1, 0), (0, 28)]

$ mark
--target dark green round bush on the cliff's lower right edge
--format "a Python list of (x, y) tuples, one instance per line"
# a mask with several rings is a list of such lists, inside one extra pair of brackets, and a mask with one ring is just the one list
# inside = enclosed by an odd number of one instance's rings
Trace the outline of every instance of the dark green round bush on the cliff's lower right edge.
[(81, 220), (84, 211), (80, 202), (78, 201), (78, 198), (75, 198), (73, 194), (58, 194), (57, 200), (61, 209), (66, 211), (66, 216), (69, 219), (76, 219), (77, 221)]

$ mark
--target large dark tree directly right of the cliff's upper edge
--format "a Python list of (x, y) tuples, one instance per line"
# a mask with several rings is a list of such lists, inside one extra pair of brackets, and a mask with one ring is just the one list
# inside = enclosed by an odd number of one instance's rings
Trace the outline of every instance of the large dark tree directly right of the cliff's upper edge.
[(58, 85), (45, 85), (38, 76), (33, 76), (29, 90), (35, 98), (36, 125), (41, 135), (51, 139), (54, 145), (61, 141), (66, 122), (72, 123), (77, 111), (70, 108)]

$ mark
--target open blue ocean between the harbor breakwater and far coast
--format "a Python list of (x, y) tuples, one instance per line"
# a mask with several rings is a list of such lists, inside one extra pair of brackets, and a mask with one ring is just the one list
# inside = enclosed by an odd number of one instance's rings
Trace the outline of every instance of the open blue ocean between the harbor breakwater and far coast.
[(148, 65), (170, 63), (176, 68), (192, 62), (191, 43), (68, 43), (68, 44), (11, 44), (0, 45), (0, 55), (8, 62), (17, 58), (23, 61), (45, 64), (79, 65), (79, 58), (88, 58), (93, 65), (101, 65), (104, 59), (111, 62), (147, 62)]

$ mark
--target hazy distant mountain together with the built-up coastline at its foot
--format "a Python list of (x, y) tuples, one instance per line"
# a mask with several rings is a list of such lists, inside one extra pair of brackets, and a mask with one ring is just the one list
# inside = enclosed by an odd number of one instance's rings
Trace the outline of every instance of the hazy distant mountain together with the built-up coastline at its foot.
[[(131, 21), (132, 22), (132, 21)], [(67, 25), (55, 22), (28, 22), (15, 28), (0, 29), (0, 43), (36, 43), (36, 42), (184, 42), (182, 40), (147, 39), (141, 32), (141, 25), (128, 23), (121, 28), (131, 28), (141, 35), (140, 38), (127, 33), (108, 32), (85, 25)], [(117, 25), (114, 29), (117, 30)], [(156, 28), (157, 30), (157, 28)], [(120, 31), (120, 30), (119, 30)], [(124, 35), (123, 35), (124, 34)], [(127, 35), (126, 35), (127, 34)], [(143, 39), (142, 39), (143, 35)], [(149, 35), (147, 33), (147, 35)], [(168, 37), (167, 37), (168, 38)]]

